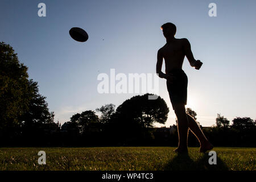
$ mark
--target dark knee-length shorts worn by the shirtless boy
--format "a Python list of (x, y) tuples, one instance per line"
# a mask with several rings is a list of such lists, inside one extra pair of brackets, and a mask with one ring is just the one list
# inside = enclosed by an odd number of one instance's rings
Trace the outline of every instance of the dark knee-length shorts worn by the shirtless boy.
[(187, 105), (188, 77), (182, 69), (174, 69), (168, 74), (172, 74), (176, 77), (172, 84), (166, 81), (172, 109), (175, 110), (176, 105)]

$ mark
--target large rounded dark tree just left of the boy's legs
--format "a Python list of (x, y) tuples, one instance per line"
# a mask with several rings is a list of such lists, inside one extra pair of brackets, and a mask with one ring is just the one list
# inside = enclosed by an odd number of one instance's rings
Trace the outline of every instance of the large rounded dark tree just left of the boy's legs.
[(152, 126), (155, 122), (165, 123), (169, 109), (166, 102), (158, 97), (134, 96), (123, 102), (104, 125), (106, 143), (118, 146), (143, 145), (154, 138)]

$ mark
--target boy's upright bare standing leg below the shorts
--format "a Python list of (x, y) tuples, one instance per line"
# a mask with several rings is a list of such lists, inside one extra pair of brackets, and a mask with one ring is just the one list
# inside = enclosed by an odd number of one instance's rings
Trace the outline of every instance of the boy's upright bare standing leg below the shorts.
[(175, 106), (175, 114), (177, 116), (177, 130), (179, 134), (179, 144), (175, 152), (188, 152), (188, 118), (185, 111), (185, 106)]

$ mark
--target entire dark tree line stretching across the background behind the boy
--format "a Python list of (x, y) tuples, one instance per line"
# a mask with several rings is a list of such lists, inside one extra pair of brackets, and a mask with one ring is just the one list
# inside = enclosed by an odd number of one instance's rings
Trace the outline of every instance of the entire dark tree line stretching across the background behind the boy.
[[(161, 97), (148, 100), (149, 93), (116, 109), (106, 104), (76, 113), (61, 126), (14, 49), (1, 42), (0, 53), (0, 146), (177, 146), (176, 125), (154, 127), (166, 123), (169, 108)], [(191, 108), (187, 114), (197, 119)], [(216, 126), (201, 128), (214, 146), (255, 147), (256, 121), (237, 117), (232, 122), (218, 114)], [(192, 134), (188, 140), (199, 146)]]

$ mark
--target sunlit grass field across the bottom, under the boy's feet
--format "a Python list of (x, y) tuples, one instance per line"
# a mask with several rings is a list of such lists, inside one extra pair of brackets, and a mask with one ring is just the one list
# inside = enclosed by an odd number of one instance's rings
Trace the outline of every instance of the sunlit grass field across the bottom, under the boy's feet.
[[(199, 148), (177, 155), (174, 147), (0, 148), (0, 170), (256, 170), (256, 148), (216, 147), (217, 164)], [(38, 152), (46, 152), (46, 165)]]

